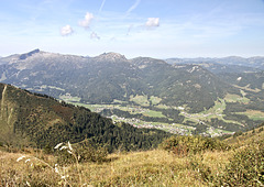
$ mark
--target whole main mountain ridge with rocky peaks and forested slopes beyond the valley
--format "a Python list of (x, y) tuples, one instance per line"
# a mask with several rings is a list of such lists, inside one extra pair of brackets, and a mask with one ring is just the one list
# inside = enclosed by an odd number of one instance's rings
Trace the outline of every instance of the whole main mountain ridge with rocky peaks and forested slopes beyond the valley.
[(228, 91), (239, 94), (201, 66), (169, 65), (148, 57), (127, 59), (117, 53), (86, 58), (35, 50), (0, 62), (2, 82), (56, 98), (69, 92), (89, 103), (129, 101), (132, 96), (146, 95), (198, 112)]

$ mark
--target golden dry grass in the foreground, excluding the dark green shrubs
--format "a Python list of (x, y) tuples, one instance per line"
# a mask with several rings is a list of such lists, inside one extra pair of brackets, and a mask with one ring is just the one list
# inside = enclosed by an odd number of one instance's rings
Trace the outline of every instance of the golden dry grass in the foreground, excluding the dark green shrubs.
[[(201, 170), (210, 168), (210, 175), (220, 174), (231, 152), (206, 152), (201, 155), (177, 157), (166, 151), (154, 150), (111, 154), (101, 164), (82, 163), (79, 173), (76, 165), (59, 167), (70, 186), (210, 186), (202, 179)], [(16, 162), (22, 154), (0, 152), (0, 186), (62, 186), (65, 183), (54, 169), (26, 157)], [(33, 156), (32, 154), (26, 156)], [(38, 155), (52, 167), (55, 157)], [(33, 165), (31, 165), (33, 163)], [(194, 167), (194, 164), (198, 166)], [(199, 168), (200, 167), (200, 168)], [(79, 182), (79, 175), (82, 183)]]

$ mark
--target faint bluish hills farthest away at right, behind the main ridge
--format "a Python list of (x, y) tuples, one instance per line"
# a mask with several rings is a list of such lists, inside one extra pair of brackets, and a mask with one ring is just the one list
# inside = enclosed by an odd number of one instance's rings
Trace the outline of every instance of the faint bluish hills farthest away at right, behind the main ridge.
[(246, 91), (248, 98), (264, 107), (264, 57), (169, 58), (166, 62), (202, 66), (223, 81)]

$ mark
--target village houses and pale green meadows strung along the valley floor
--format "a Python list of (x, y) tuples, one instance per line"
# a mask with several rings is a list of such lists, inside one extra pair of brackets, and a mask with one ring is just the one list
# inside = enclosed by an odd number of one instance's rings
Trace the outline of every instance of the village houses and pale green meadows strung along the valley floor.
[[(131, 114), (143, 114), (146, 117), (154, 117), (154, 118), (164, 118), (165, 116), (162, 114), (162, 112), (160, 111), (155, 111), (155, 110), (151, 110), (148, 108), (142, 107), (142, 106), (129, 106), (127, 105), (125, 107), (123, 107), (124, 105), (122, 105), (120, 101), (117, 101), (112, 105), (85, 105), (85, 103), (80, 103), (79, 98), (77, 97), (72, 97), (70, 94), (67, 94), (65, 96), (62, 96), (61, 99), (77, 105), (77, 106), (82, 106), (86, 107), (88, 109), (90, 109), (94, 112), (97, 113), (101, 113), (103, 110), (111, 110), (113, 111), (114, 109), (121, 110), (121, 111), (127, 111)], [(223, 101), (222, 101), (223, 102)], [(139, 102), (141, 103), (141, 102)], [(221, 102), (219, 102), (221, 103)], [(218, 105), (219, 105), (218, 103)], [(223, 102), (224, 103), (224, 102)], [(167, 106), (158, 106), (160, 108), (169, 108)], [(219, 106), (218, 106), (219, 107)], [(233, 134), (234, 132), (230, 132), (230, 131), (224, 131), (221, 129), (216, 129), (213, 127), (210, 127), (209, 124), (206, 124), (205, 119), (210, 118), (210, 117), (219, 117), (222, 118), (222, 111), (224, 109), (223, 105), (220, 105), (220, 107), (218, 109), (212, 109), (206, 113), (188, 113), (185, 111), (184, 107), (174, 107), (174, 109), (177, 109), (180, 111), (180, 116), (185, 117), (185, 121), (189, 120), (193, 121), (197, 124), (204, 124), (207, 125), (207, 130), (202, 133), (200, 133), (200, 135), (204, 136), (221, 136), (221, 135), (226, 135), (226, 134)], [(174, 134), (179, 134), (179, 135), (190, 135), (193, 134), (193, 132), (196, 130), (196, 127), (194, 125), (186, 125), (186, 124), (179, 124), (179, 123), (166, 123), (166, 122), (152, 122), (152, 121), (144, 121), (142, 119), (139, 118), (124, 118), (124, 117), (120, 117), (118, 114), (111, 114), (111, 116), (106, 116), (107, 118), (112, 119), (112, 121), (114, 123), (117, 122), (125, 122), (129, 123), (135, 128), (145, 128), (145, 129), (160, 129), (160, 130), (164, 130), (166, 132), (169, 133), (174, 133)]]

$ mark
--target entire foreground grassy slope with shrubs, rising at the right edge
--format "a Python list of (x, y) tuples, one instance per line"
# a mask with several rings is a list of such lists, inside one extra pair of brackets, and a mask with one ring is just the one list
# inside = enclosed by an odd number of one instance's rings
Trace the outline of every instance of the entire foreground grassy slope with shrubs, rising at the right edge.
[[(263, 141), (262, 127), (229, 139), (228, 150), (176, 154), (183, 150), (182, 144), (170, 152), (162, 146), (146, 152), (117, 152), (101, 163), (78, 164), (58, 163), (57, 156), (33, 150), (0, 152), (0, 182), (2, 186), (263, 186)], [(194, 142), (186, 143), (187, 148)]]

